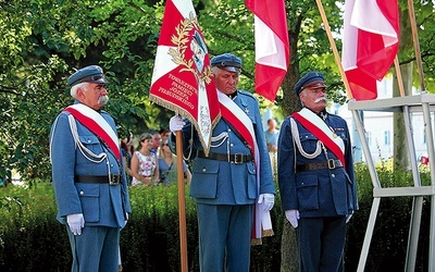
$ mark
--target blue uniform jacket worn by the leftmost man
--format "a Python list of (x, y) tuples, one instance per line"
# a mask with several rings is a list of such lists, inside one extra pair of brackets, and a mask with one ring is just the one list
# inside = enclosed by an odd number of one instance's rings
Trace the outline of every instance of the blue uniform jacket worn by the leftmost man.
[[(100, 113), (115, 131), (113, 119), (104, 111)], [(123, 163), (108, 151), (92, 132), (75, 120), (83, 145), (96, 154), (107, 153), (108, 160), (98, 162), (96, 158), (85, 157), (73, 139), (67, 115), (67, 112), (60, 113), (50, 133), (58, 220), (65, 223), (67, 214), (83, 213), (85, 226), (124, 227), (126, 212), (132, 210)], [(121, 185), (74, 183), (75, 175), (108, 175), (108, 168), (111, 174), (122, 175)]]

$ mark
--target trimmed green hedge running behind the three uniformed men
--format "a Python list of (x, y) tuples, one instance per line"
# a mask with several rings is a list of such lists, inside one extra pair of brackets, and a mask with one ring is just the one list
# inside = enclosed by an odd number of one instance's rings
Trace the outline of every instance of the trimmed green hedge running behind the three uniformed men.
[[(356, 168), (360, 210), (348, 224), (346, 270), (356, 271), (372, 206), (372, 185), (363, 164)], [(412, 185), (408, 172), (378, 173), (383, 186)], [(428, 173), (422, 173), (430, 184)], [(176, 186), (133, 187), (133, 213), (121, 232), (124, 271), (179, 271), (178, 200)], [(186, 188), (186, 195), (188, 188)], [(366, 271), (402, 271), (412, 198), (381, 200)], [(65, 226), (55, 221), (49, 183), (0, 188), (0, 271), (70, 271), (71, 252)], [(415, 271), (425, 271), (428, 256), (430, 201), (425, 199)], [(277, 194), (272, 210), (275, 235), (252, 247), (251, 271), (279, 271), (284, 217)], [(198, 268), (198, 230), (195, 203), (186, 197), (189, 271)]]

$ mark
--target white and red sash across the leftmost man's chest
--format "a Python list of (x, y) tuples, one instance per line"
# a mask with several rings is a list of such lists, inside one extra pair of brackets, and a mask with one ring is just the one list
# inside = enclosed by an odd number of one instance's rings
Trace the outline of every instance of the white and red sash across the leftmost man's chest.
[(121, 161), (120, 140), (116, 133), (100, 113), (82, 103), (69, 106), (63, 111), (70, 112), (80, 124), (102, 139)]

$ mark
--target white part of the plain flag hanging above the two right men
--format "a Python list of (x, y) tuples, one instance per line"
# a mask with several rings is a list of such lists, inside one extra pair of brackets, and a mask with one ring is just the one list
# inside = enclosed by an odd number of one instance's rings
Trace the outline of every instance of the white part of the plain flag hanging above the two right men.
[(284, 42), (258, 16), (254, 24), (256, 62), (287, 71)]

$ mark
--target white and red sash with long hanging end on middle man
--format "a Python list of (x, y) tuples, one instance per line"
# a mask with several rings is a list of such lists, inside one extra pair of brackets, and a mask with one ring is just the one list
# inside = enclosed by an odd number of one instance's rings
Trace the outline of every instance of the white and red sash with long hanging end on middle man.
[[(251, 147), (251, 153), (254, 158), (256, 173), (257, 173), (257, 189), (260, 194), (260, 153), (258, 151), (256, 132), (253, 131), (252, 121), (249, 116), (226, 95), (217, 91), (219, 102), (221, 104), (222, 118), (237, 128), (241, 137)], [(261, 205), (256, 201), (254, 219), (252, 227), (252, 238), (261, 238), (262, 232), (272, 230), (272, 222), (270, 212), (264, 212)]]

